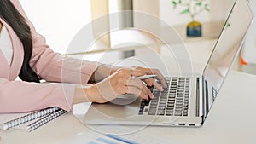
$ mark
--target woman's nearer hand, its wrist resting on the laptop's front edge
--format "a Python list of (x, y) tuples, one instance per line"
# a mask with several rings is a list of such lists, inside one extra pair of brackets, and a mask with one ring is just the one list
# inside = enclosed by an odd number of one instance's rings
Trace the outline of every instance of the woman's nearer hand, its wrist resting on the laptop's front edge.
[[(131, 77), (131, 69), (121, 68), (103, 79), (97, 84), (93, 84), (90, 89), (84, 89), (85, 96), (89, 101), (104, 103), (116, 99), (119, 95), (134, 94), (148, 100), (154, 95), (147, 88), (143, 81)], [(93, 94), (94, 93), (94, 94)]]

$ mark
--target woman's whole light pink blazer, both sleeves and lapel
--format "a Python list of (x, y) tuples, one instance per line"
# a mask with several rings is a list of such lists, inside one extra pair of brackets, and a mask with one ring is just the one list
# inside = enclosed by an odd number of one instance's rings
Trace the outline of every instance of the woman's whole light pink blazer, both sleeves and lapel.
[[(27, 20), (19, 0), (10, 1)], [(10, 66), (0, 50), (0, 113), (28, 112), (45, 107), (61, 107), (70, 111), (75, 84), (87, 84), (99, 63), (74, 60), (54, 53), (46, 45), (44, 37), (39, 35), (32, 23), (27, 20), (32, 30), (32, 69), (40, 78), (53, 83), (15, 81), (22, 66), (23, 46), (13, 29), (1, 18), (0, 21), (6, 26), (14, 48)]]

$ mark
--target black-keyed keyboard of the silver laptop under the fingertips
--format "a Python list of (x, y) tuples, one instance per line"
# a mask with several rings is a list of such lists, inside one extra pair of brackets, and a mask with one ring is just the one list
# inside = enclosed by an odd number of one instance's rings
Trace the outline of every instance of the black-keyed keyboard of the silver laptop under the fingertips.
[(148, 115), (188, 116), (190, 78), (172, 77), (166, 78), (166, 82), (168, 89), (162, 92), (149, 87), (154, 99), (142, 100), (139, 115), (146, 112)]

